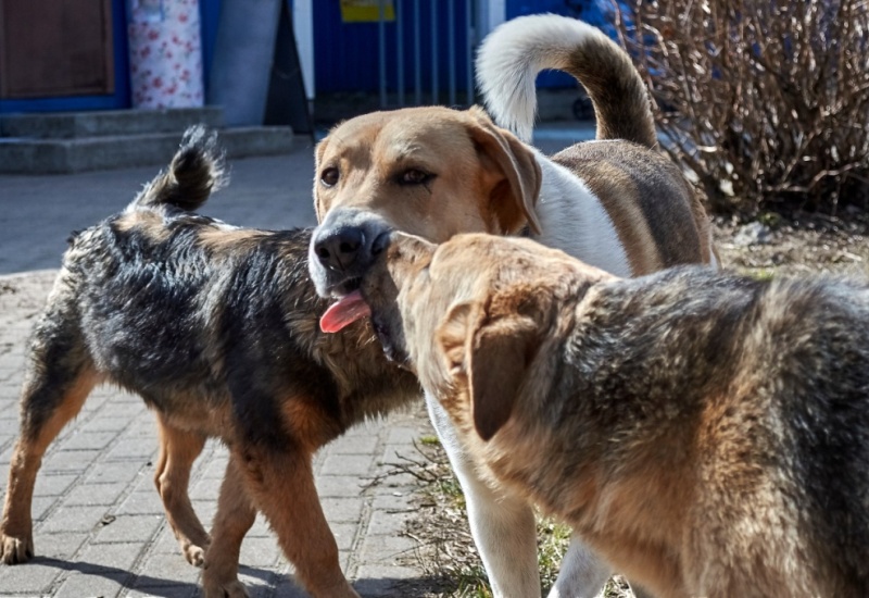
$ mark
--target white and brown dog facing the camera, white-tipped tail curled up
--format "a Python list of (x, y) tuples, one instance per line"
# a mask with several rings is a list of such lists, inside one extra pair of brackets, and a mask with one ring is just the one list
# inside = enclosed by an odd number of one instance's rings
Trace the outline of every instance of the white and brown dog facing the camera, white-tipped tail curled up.
[[(351, 295), (392, 229), (436, 242), (457, 233), (530, 234), (619, 276), (715, 263), (698, 198), (656, 151), (643, 82), (605, 35), (555, 15), (516, 18), (483, 41), (477, 66), (490, 112), (518, 137), (479, 108), (429, 107), (352, 119), (318, 145), (320, 225), (310, 263), (320, 295)], [(527, 145), (543, 68), (566, 71), (585, 87), (597, 140), (551, 158)], [(494, 594), (539, 596), (531, 507), (483, 482), (441, 406), (431, 397), (427, 403)], [(593, 596), (609, 574), (575, 541), (552, 596)]]

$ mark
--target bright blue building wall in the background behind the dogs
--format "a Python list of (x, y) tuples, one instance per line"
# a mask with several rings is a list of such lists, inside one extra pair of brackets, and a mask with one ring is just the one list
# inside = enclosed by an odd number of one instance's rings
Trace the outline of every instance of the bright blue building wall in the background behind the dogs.
[[(287, 0), (292, 4), (292, 0)], [(430, 7), (437, 5), (438, 33), (431, 27)], [(445, 101), (448, 77), (451, 64), (454, 68), (456, 91), (459, 102), (464, 101), (468, 82), (467, 38), (473, 35), (465, 27), (465, 10), (471, 3), (474, 27), (484, 32), (489, 23), (477, 23), (479, 15), (488, 15), (487, 10), (503, 13), (506, 18), (524, 14), (553, 12), (570, 16), (579, 16), (594, 24), (603, 22), (599, 2), (607, 0), (455, 0), (453, 52), (450, 52), (446, 38), (448, 2), (444, 0), (396, 0), (405, 10), (400, 14), (404, 25), (404, 43), (396, 43), (396, 24), (386, 24), (387, 40), (387, 84), (391, 92), (398, 85), (398, 53), (404, 55), (405, 91), (413, 94), (415, 82), (414, 64), (414, 22), (410, 10), (418, 3), (421, 10), (420, 20), (420, 83), (424, 94), (432, 87), (432, 57), (437, 55), (437, 77), (440, 101)], [(479, 3), (486, 3), (480, 7)], [(112, 0), (114, 22), (114, 63), (115, 92), (109, 96), (81, 96), (60, 98), (36, 98), (27, 100), (0, 100), (0, 113), (39, 112), (39, 111), (77, 111), (77, 110), (112, 110), (130, 107), (129, 92), (129, 58), (127, 47), (127, 0)], [(203, 77), (207, 88), (214, 46), (221, 15), (222, 0), (200, 0)], [(494, 7), (494, 8), (493, 8)], [(367, 92), (376, 94), (379, 89), (380, 65), (378, 55), (377, 23), (344, 23), (341, 20), (339, 0), (314, 0), (313, 9), (313, 45), (316, 94)], [(491, 18), (491, 15), (488, 16)], [(432, 50), (432, 38), (438, 41), (437, 50)], [(562, 73), (541, 74), (538, 84), (541, 87), (575, 87), (571, 77)]]

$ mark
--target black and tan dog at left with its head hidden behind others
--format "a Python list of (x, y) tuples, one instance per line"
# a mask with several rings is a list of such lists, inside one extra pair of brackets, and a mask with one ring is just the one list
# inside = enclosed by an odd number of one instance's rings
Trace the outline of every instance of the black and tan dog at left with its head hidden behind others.
[[(21, 398), (0, 550), (34, 553), (42, 454), (95, 385), (139, 394), (156, 414), (155, 483), (207, 596), (244, 596), (241, 540), (256, 511), (315, 596), (356, 596), (341, 573), (312, 456), (350, 425), (419, 396), (367, 324), (319, 332), (308, 231), (228, 226), (189, 212), (223, 180), (213, 135), (189, 130), (168, 172), (123, 212), (72, 239), (36, 325)], [(187, 484), (206, 437), (230, 451), (211, 540)]]

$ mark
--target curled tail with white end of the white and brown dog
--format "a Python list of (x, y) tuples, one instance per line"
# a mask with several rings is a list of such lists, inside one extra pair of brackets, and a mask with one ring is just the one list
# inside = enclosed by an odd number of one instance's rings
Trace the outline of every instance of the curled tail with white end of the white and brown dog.
[(477, 83), (498, 124), (530, 142), (534, 78), (546, 68), (565, 71), (585, 88), (597, 139), (657, 144), (648, 92), (627, 52), (595, 27), (555, 14), (507, 21), (483, 40)]

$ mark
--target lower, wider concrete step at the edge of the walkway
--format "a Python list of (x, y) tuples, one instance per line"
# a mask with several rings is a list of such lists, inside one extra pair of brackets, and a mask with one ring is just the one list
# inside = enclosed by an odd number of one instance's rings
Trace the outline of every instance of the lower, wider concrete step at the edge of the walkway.
[[(73, 138), (0, 137), (0, 173), (63, 174), (167, 164), (185, 126), (173, 133), (101, 135)], [(219, 130), (229, 158), (270, 155), (292, 150), (288, 126), (237, 127)]]

